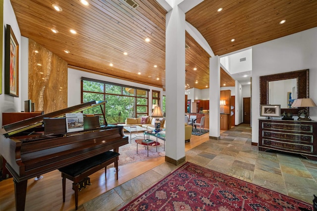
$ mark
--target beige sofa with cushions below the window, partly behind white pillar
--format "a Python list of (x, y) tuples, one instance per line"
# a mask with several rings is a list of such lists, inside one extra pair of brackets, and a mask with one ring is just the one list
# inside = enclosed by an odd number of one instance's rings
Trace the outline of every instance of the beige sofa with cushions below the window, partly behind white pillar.
[[(146, 120), (144, 120), (146, 119)], [(140, 127), (144, 127), (147, 128), (149, 130), (154, 130), (154, 123), (156, 121), (156, 118), (147, 116), (147, 118), (143, 117), (143, 120), (141, 117), (139, 118), (127, 118), (125, 120), (125, 124), (118, 124), (119, 126), (140, 126)], [(160, 127), (161, 128), (165, 128), (165, 119), (164, 118), (159, 118), (160, 121)], [(187, 125), (185, 123), (185, 142), (189, 142), (190, 138), (192, 136), (192, 126)]]

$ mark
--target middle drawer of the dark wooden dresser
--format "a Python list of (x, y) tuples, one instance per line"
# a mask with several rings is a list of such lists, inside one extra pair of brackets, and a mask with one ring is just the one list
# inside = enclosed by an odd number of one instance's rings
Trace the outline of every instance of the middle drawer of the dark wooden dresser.
[(288, 133), (288, 132), (276, 132), (276, 131), (262, 131), (263, 138), (277, 138), (292, 141), (300, 141), (307, 144), (312, 144), (314, 142), (313, 135), (299, 134), (299, 133)]

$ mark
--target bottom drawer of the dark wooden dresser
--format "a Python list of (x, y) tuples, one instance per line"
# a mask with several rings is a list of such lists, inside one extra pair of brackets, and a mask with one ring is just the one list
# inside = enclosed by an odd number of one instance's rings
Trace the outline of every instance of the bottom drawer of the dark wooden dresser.
[(294, 152), (305, 152), (305, 153), (313, 153), (313, 145), (307, 144), (297, 144), (297, 143), (289, 143), (283, 141), (275, 141), (269, 139), (262, 139), (262, 146), (267, 146), (270, 148), (276, 148), (286, 151), (294, 151)]

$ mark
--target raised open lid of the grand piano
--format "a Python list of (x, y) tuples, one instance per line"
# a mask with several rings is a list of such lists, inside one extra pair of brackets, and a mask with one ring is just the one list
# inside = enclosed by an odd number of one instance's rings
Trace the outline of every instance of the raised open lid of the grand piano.
[[(33, 117), (30, 119), (22, 120), (20, 122), (12, 123), (9, 125), (5, 125), (0, 129), (0, 133), (4, 135), (5, 137), (9, 137), (11, 135), (14, 135), (16, 133), (22, 132), (24, 130), (38, 127), (43, 125), (43, 118), (60, 118), (60, 117), (65, 117), (66, 113), (79, 113), (84, 110), (103, 105), (105, 104), (106, 101), (97, 101), (93, 100), (87, 103), (82, 103), (79, 105), (75, 105), (72, 107), (68, 107), (65, 109), (61, 109), (58, 111), (54, 111), (48, 114), (40, 115), (37, 117)], [(105, 115), (104, 115), (105, 116)]]

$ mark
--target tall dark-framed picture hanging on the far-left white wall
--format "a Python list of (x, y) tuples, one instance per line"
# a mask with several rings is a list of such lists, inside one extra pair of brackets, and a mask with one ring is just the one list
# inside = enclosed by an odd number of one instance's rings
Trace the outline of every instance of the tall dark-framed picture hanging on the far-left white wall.
[(19, 43), (12, 28), (6, 25), (4, 93), (19, 97)]

